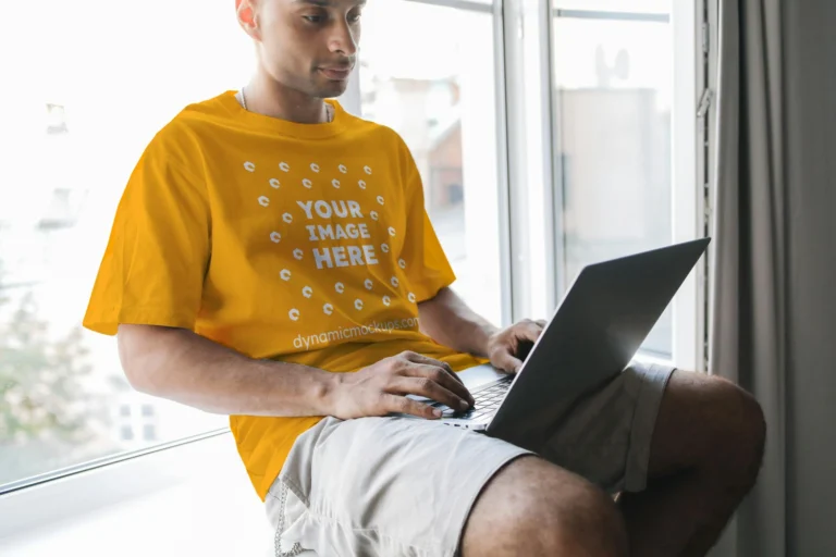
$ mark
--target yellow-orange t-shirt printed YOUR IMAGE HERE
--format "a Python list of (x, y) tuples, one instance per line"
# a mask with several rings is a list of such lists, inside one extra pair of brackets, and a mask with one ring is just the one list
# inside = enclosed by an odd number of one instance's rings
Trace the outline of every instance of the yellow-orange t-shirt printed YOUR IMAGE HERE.
[[(245, 111), (229, 91), (157, 134), (125, 187), (84, 325), (183, 327), (332, 372), (403, 350), (456, 370), (482, 362), (419, 331), (417, 305), (455, 275), (409, 150), (329, 102), (331, 123), (297, 124)], [(230, 418), (262, 499), (319, 420)]]

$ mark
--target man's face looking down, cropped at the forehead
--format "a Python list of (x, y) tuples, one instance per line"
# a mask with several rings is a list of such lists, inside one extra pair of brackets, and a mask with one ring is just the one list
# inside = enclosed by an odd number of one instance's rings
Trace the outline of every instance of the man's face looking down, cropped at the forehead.
[(315, 98), (345, 91), (357, 60), (365, 0), (239, 1), (238, 18), (256, 39), (270, 76)]

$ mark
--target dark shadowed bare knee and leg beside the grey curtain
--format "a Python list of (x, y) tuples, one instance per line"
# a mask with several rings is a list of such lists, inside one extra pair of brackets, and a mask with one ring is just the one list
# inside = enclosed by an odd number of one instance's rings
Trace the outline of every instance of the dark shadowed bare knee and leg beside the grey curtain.
[(648, 487), (618, 499), (630, 555), (702, 556), (754, 485), (763, 412), (733, 383), (676, 371), (653, 432)]

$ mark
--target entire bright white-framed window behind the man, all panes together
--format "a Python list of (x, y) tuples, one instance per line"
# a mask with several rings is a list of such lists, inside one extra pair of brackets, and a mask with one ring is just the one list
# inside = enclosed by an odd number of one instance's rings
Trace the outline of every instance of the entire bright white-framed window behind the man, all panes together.
[[(369, 2), (347, 108), (406, 140), (479, 313), (548, 317), (583, 264), (696, 235), (696, 2)], [(79, 322), (142, 150), (244, 84), (251, 46), (229, 0), (120, 4), (103, 27), (98, 11), (45, 0), (32, 49), (0, 8), (2, 78), (26, 84), (0, 89), (0, 490), (226, 425), (133, 392), (115, 342)], [(696, 315), (675, 305), (644, 349), (669, 358)]]

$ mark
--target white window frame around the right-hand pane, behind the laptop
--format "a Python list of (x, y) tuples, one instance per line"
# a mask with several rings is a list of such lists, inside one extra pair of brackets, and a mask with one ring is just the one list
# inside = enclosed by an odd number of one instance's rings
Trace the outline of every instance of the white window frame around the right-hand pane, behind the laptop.
[[(512, 270), (512, 285), (525, 284), (533, 290), (533, 295), (526, 296), (520, 289), (513, 294), (514, 320), (531, 315), (542, 317), (544, 308), (548, 308), (551, 317), (552, 308), (556, 307), (563, 298), (566, 284), (564, 269), (564, 242), (563, 234), (563, 175), (561, 161), (552, 158), (551, 153), (557, 151), (560, 136), (555, 129), (560, 127), (560, 113), (555, 110), (555, 98), (552, 94), (554, 83), (554, 69), (552, 64), (553, 53), (553, 22), (556, 15), (571, 15), (583, 18), (605, 18), (624, 21), (669, 21), (674, 37), (674, 109), (672, 112), (672, 243), (690, 240), (706, 235), (704, 225), (705, 215), (710, 212), (705, 205), (705, 195), (702, 184), (708, 184), (705, 177), (706, 157), (709, 149), (705, 134), (697, 115), (698, 100), (706, 87), (706, 78), (711, 75), (711, 69), (703, 66), (702, 55), (703, 17), (705, 0), (690, 0), (688, 2), (672, 1), (672, 13), (668, 15), (642, 12), (610, 12), (603, 10), (562, 10), (554, 9), (551, 2), (538, 0), (511, 0), (504, 11), (505, 28), (515, 29), (517, 33), (508, 33), (505, 49), (506, 57), (516, 61), (516, 67), (521, 65), (520, 52), (525, 50), (527, 35), (536, 34), (534, 42), (538, 50), (529, 48), (529, 54), (538, 57), (540, 72), (538, 83), (527, 83), (525, 79), (508, 79), (506, 88), (508, 99), (521, 99), (526, 87), (538, 87), (539, 107), (538, 113), (544, 117), (529, 117), (529, 128), (517, 133), (517, 137), (525, 137), (527, 143), (516, 144), (516, 149), (509, 151), (509, 168), (512, 170), (511, 182), (511, 245), (514, 247), (513, 260), (517, 263)], [(533, 23), (532, 16), (537, 17)], [(509, 64), (513, 66), (513, 64)], [(531, 104), (530, 99), (528, 102)], [(519, 102), (517, 102), (519, 107)], [(514, 114), (515, 107), (506, 107), (509, 114)], [(518, 110), (518, 108), (517, 108)], [(512, 123), (519, 123), (524, 119), (508, 119)], [(538, 124), (539, 123), (539, 124)], [(522, 124), (518, 124), (522, 125)], [(554, 125), (554, 127), (553, 127)], [(514, 131), (512, 129), (512, 136)], [(532, 139), (533, 138), (533, 139)], [(539, 154), (532, 163), (531, 152)], [(533, 175), (526, 171), (532, 166), (545, 166), (544, 171), (538, 171)], [(532, 180), (533, 178), (533, 180)], [(541, 184), (541, 185), (538, 185)], [(541, 191), (545, 187), (546, 191)], [(534, 222), (532, 226), (531, 213), (526, 212), (527, 200), (534, 198), (543, 202), (543, 222)], [(515, 207), (516, 202), (516, 207)], [(530, 208), (528, 209), (530, 210)], [(531, 238), (543, 234), (553, 240), (545, 242), (540, 250), (530, 248)], [(531, 272), (537, 260), (548, 261), (549, 270), (539, 276)], [(637, 360), (674, 364), (684, 369), (705, 371), (706, 369), (706, 337), (708, 337), (708, 276), (709, 265), (706, 258), (698, 263), (696, 269), (686, 278), (681, 288), (675, 296), (673, 307), (673, 343), (671, 358), (639, 351)]]

